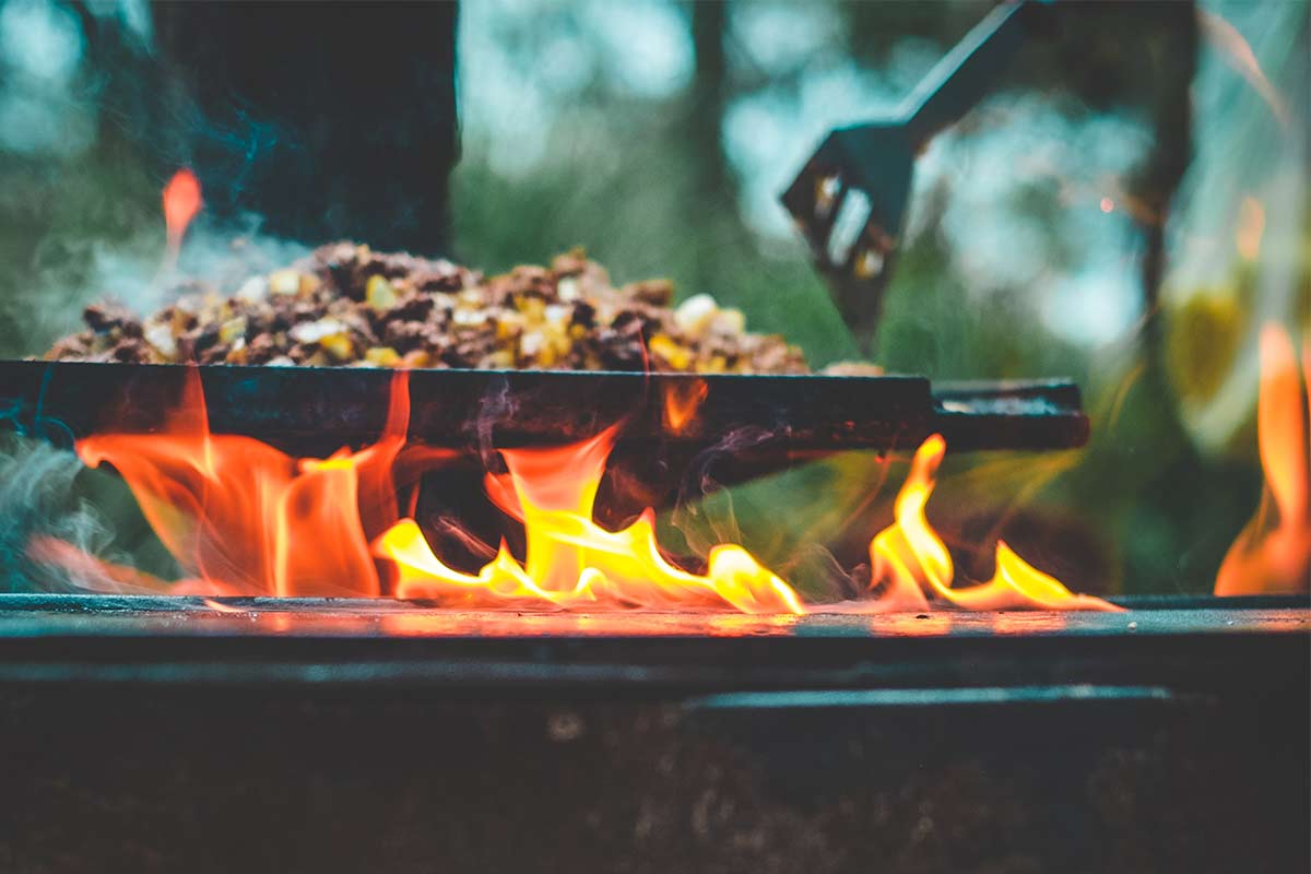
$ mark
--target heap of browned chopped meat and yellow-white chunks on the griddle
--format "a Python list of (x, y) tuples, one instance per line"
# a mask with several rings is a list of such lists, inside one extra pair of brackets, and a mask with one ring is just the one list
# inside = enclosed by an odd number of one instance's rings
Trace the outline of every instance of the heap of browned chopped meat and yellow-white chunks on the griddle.
[(235, 292), (193, 287), (140, 320), (88, 307), (52, 360), (805, 373), (781, 337), (750, 334), (708, 295), (673, 307), (654, 279), (615, 288), (582, 250), (484, 278), (337, 242)]

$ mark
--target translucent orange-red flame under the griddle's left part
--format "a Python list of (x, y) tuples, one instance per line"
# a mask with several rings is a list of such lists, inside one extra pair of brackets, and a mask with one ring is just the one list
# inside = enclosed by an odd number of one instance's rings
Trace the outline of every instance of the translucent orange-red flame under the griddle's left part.
[(409, 418), (404, 380), (393, 377), (379, 442), (326, 460), (211, 434), (195, 370), (163, 434), (90, 436), (77, 453), (122, 474), (190, 591), (376, 596), (366, 544), (397, 516), (391, 470)]

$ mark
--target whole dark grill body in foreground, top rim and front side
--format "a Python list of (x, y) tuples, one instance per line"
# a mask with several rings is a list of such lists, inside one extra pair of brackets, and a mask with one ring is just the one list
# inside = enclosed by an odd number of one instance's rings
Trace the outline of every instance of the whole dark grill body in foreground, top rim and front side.
[(1311, 864), (1311, 625), (1287, 603), (288, 607), (0, 598), (0, 870)]

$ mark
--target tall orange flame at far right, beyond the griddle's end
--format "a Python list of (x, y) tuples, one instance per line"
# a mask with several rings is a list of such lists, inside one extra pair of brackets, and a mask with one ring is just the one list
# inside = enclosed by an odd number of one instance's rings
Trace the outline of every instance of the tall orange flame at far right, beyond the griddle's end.
[[(1276, 595), (1311, 588), (1311, 350), (1302, 373), (1287, 332), (1261, 329), (1256, 434), (1265, 473), (1261, 507), (1230, 546), (1215, 575), (1217, 595)], [(1303, 385), (1303, 380), (1306, 385)], [(1270, 525), (1270, 510), (1277, 519)]]

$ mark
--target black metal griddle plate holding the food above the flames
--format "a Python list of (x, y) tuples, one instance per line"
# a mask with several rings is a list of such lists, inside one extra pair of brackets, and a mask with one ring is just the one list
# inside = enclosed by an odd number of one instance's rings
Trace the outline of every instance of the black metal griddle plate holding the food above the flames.
[[(149, 432), (174, 409), (185, 366), (0, 362), (0, 417), (51, 439)], [(366, 368), (198, 368), (210, 426), (303, 455), (378, 436), (391, 372)], [(667, 398), (707, 387), (679, 428)], [(412, 440), (477, 447), (558, 444), (631, 417), (628, 444), (712, 447), (750, 434), (771, 455), (847, 448), (912, 449), (945, 431), (953, 449), (1083, 446), (1088, 419), (1075, 385), (1053, 380), (956, 385), (919, 376), (747, 376), (541, 371), (413, 371)], [(747, 452), (737, 449), (738, 453)]]

